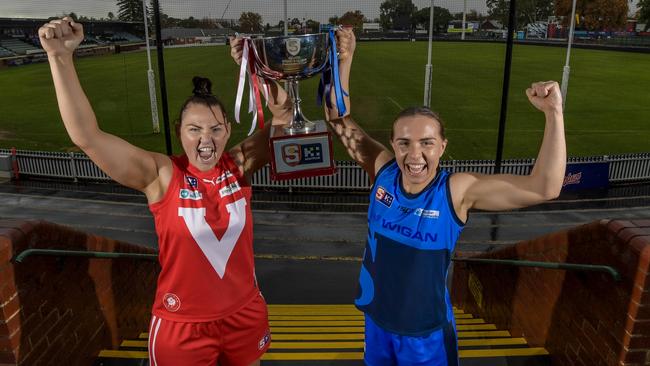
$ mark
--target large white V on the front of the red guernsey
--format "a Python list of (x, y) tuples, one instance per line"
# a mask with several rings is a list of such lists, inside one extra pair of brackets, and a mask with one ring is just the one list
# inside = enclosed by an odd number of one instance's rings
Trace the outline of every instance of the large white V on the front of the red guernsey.
[(232, 250), (235, 248), (239, 236), (246, 225), (246, 199), (242, 198), (226, 205), (230, 214), (228, 229), (221, 240), (212, 231), (212, 228), (205, 220), (205, 207), (191, 208), (179, 207), (178, 216), (185, 220), (194, 241), (199, 245), (203, 254), (208, 259), (214, 270), (223, 278), (226, 273), (226, 265)]

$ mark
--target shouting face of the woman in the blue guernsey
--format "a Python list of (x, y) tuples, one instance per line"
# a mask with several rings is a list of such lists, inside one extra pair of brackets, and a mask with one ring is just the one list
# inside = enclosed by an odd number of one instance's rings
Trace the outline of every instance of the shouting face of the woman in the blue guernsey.
[(404, 190), (419, 193), (435, 178), (447, 140), (442, 137), (437, 120), (412, 115), (395, 121), (391, 146), (402, 171)]

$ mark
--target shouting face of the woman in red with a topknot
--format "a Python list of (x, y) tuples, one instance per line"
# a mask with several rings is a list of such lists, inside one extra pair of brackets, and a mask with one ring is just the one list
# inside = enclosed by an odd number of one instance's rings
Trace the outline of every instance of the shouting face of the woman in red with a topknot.
[(218, 106), (190, 103), (183, 111), (177, 132), (190, 164), (208, 171), (223, 154), (230, 137), (230, 123)]

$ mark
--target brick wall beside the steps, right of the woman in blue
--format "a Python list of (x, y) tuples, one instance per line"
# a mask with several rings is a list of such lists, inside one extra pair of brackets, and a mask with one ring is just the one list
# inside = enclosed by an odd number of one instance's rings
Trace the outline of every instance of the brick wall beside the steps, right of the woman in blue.
[(478, 257), (614, 267), (619, 282), (600, 272), (458, 262), (453, 302), (546, 347), (556, 365), (650, 365), (650, 220), (597, 221)]

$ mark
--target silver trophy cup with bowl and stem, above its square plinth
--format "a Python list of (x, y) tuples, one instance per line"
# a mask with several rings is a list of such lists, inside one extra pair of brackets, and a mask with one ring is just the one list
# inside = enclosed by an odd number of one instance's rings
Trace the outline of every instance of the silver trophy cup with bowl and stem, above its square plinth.
[(298, 81), (323, 71), (327, 65), (328, 33), (255, 38), (254, 67), (257, 73), (272, 80), (288, 82), (293, 100), (293, 118), (284, 127), (289, 135), (313, 132), (316, 124), (309, 121), (300, 109)]

